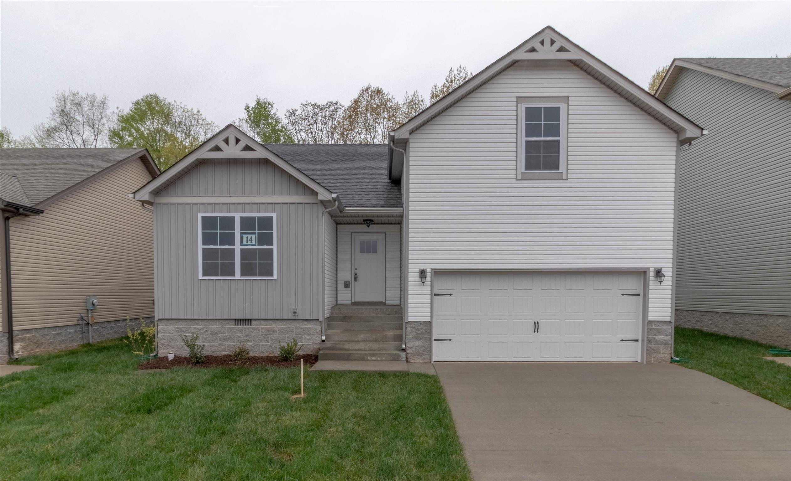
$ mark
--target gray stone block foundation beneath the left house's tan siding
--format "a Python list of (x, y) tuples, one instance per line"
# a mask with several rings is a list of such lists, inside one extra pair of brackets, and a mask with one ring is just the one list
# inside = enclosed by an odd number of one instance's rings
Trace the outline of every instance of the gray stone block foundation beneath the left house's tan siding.
[[(130, 321), (139, 325), (138, 321)], [(134, 324), (134, 323), (137, 324)], [(153, 318), (146, 318), (146, 322), (153, 325)], [(93, 342), (115, 339), (127, 335), (127, 320), (103, 321), (93, 325)], [(45, 352), (73, 349), (80, 344), (88, 342), (88, 325), (56, 325), (53, 327), (40, 327), (36, 329), (14, 329), (13, 352), (14, 355), (33, 355)], [(8, 360), (8, 336), (0, 334), (0, 364)]]

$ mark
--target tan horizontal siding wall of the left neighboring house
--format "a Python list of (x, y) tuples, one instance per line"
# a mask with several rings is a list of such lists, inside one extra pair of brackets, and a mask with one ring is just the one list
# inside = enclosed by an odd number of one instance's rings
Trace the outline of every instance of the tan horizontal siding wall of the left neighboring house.
[(153, 316), (152, 215), (127, 197), (149, 180), (128, 160), (10, 220), (14, 330), (78, 324), (86, 295), (96, 322)]

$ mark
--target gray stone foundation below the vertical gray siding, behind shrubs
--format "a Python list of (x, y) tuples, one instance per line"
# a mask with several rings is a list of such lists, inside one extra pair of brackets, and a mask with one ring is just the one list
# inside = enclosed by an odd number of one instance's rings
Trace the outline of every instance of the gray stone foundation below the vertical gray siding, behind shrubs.
[(233, 319), (160, 319), (157, 340), (160, 355), (172, 352), (187, 355), (181, 335), (198, 334), (199, 344), (206, 344), (206, 354), (230, 354), (244, 343), (250, 355), (277, 354), (278, 341), (286, 344), (297, 339), (300, 353), (319, 351), (321, 324), (318, 319), (252, 319), (252, 325), (234, 325)]

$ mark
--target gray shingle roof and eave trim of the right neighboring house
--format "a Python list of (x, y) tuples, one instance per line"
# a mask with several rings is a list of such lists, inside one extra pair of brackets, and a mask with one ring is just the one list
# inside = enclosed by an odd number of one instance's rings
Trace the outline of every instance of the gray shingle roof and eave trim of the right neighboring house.
[(682, 69), (763, 88), (781, 99), (791, 96), (791, 58), (674, 58), (655, 94), (658, 99), (668, 96)]

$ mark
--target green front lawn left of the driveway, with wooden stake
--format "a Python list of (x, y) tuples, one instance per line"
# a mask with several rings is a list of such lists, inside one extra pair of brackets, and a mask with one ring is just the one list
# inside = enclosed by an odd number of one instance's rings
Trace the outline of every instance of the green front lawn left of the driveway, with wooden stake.
[(119, 340), (0, 378), (0, 479), (470, 479), (436, 376), (135, 374)]

